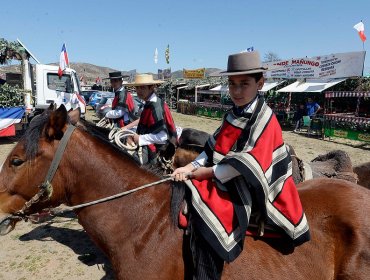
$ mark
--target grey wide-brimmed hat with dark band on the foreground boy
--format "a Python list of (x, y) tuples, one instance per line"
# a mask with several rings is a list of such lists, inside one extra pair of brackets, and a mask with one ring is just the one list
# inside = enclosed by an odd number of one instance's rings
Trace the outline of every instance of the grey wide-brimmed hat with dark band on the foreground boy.
[(219, 72), (218, 76), (254, 74), (265, 71), (267, 68), (262, 67), (259, 52), (242, 52), (229, 55), (227, 70)]

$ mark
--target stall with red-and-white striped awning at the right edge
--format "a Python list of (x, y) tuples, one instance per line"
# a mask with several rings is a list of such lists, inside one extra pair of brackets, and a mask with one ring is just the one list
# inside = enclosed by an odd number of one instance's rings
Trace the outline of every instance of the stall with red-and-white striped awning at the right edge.
[(324, 136), (370, 142), (370, 92), (326, 92)]

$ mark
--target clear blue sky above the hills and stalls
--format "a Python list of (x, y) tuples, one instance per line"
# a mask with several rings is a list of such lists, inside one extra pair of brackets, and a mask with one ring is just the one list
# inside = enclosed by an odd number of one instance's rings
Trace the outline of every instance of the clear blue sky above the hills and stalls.
[[(17, 0), (0, 10), (0, 38), (20, 39), (41, 63), (57, 62), (66, 43), (70, 62), (139, 73), (225, 69), (229, 54), (249, 47), (262, 59), (268, 52), (290, 59), (370, 44), (369, 0)], [(361, 20), (364, 46), (353, 28)]]

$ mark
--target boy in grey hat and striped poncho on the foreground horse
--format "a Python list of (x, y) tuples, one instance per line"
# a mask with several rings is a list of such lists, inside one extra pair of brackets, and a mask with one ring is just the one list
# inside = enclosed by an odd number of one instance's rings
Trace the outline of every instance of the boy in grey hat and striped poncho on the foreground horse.
[(256, 51), (229, 56), (220, 75), (228, 76), (234, 106), (204, 152), (172, 174), (191, 192), (188, 231), (195, 279), (221, 278), (224, 261), (243, 250), (250, 218), (259, 236), (268, 224), (293, 245), (310, 238), (282, 130), (258, 94), (264, 71)]

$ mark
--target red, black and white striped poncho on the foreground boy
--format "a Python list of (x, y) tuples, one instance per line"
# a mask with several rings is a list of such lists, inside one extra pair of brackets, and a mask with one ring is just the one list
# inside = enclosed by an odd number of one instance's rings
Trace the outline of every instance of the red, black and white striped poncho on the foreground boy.
[(228, 112), (205, 152), (210, 165), (226, 163), (241, 174), (224, 184), (214, 178), (186, 181), (192, 223), (221, 258), (233, 261), (243, 250), (252, 209), (293, 244), (310, 239), (290, 154), (276, 116), (262, 97), (253, 113), (238, 117)]

